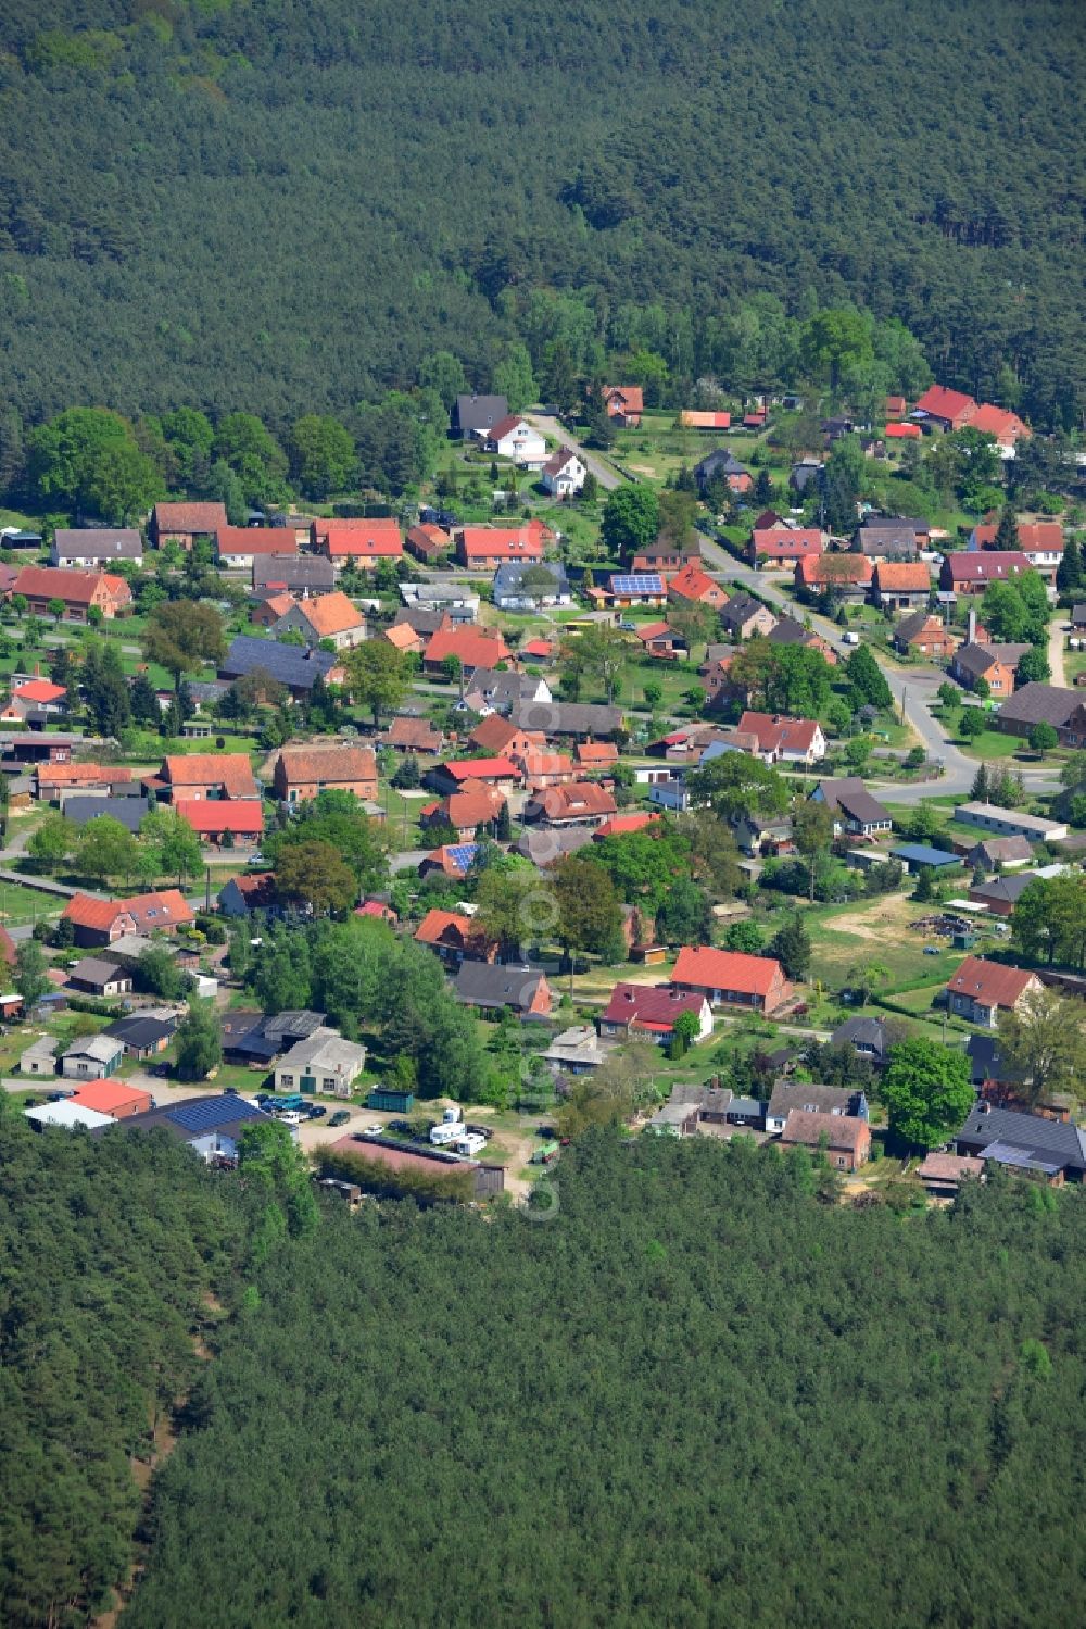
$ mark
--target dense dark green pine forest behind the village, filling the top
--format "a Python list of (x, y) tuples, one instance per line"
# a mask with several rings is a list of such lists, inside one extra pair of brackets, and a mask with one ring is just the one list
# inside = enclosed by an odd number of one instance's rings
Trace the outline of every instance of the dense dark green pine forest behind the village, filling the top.
[[(511, 8), (0, 0), (0, 399), (33, 424), (653, 353), (788, 373), (900, 319), (939, 380), (1081, 424), (1075, 0)], [(5, 435), (10, 438), (10, 428)]]

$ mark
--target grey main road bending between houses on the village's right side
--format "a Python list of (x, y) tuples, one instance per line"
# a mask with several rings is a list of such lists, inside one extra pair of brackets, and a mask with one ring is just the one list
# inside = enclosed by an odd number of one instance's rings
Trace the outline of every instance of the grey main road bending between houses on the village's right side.
[[(710, 575), (757, 591), (762, 599), (769, 599), (772, 604), (780, 606), (791, 616), (809, 617), (816, 632), (819, 632), (839, 655), (848, 653), (848, 647), (842, 642), (842, 630), (835, 622), (819, 616), (816, 611), (808, 611), (806, 608), (798, 606), (796, 601), (783, 591), (783, 588), (778, 588), (772, 582), (772, 578), (767, 578), (762, 572), (755, 572), (751, 565), (741, 565), (739, 560), (728, 554), (726, 549), (721, 549), (720, 544), (713, 542), (705, 534), (700, 536), (700, 547), (702, 557), (712, 565)], [(874, 655), (878, 660), (878, 652)], [(886, 782), (882, 790), (887, 795), (892, 793), (891, 801), (894, 803), (920, 803), (923, 798), (935, 795), (967, 797), (977, 774), (977, 759), (969, 757), (957, 746), (954, 746), (943, 730), (943, 725), (938, 723), (931, 714), (931, 704), (935, 702), (936, 691), (939, 684), (944, 683), (946, 674), (939, 668), (933, 668), (930, 663), (899, 668), (879, 661), (879, 666), (886, 674), (886, 683), (891, 687), (899, 714), (904, 712), (905, 722), (920, 736), (928, 757), (933, 762), (941, 761), (944, 766), (944, 774), (938, 780), (922, 780), (909, 785), (902, 785), (900, 782)], [(1058, 681), (1053, 678), (1053, 683)], [(1026, 774), (1024, 782), (1031, 792), (1052, 792), (1057, 788), (1057, 782), (1052, 780), (1052, 777), (1039, 774)]]

